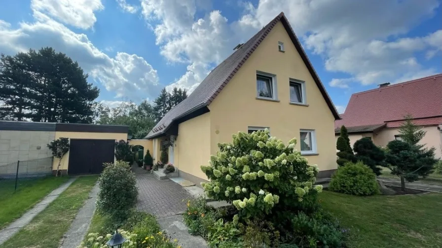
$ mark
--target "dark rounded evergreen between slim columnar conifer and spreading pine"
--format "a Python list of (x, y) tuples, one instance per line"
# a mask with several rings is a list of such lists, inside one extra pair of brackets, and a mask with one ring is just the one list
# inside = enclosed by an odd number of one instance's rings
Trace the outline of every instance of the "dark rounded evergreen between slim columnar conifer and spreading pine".
[(385, 153), (382, 149), (375, 146), (371, 139), (364, 137), (357, 140), (353, 145), (353, 151), (358, 161), (362, 161), (370, 167), (377, 176), (381, 174), (381, 169), (377, 166), (383, 164)]

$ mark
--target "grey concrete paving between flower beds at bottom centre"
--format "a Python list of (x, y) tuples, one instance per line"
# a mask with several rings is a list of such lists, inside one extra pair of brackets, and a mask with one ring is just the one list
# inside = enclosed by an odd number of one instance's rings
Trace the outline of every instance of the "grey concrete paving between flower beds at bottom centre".
[(189, 234), (187, 226), (183, 222), (182, 215), (158, 218), (161, 228), (166, 230), (171, 240), (177, 239), (183, 248), (208, 248), (206, 241), (201, 236)]

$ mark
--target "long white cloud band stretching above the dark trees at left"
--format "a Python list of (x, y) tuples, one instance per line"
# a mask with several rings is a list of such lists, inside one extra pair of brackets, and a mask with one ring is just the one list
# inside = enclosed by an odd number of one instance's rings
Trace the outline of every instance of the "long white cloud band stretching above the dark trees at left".
[(144, 58), (121, 52), (111, 58), (95, 47), (85, 34), (75, 33), (40, 12), (34, 17), (34, 23), (20, 23), (17, 29), (0, 22), (0, 51), (13, 55), (29, 48), (51, 46), (77, 61), (92, 79), (115, 92), (117, 97), (139, 101), (158, 93), (157, 72)]

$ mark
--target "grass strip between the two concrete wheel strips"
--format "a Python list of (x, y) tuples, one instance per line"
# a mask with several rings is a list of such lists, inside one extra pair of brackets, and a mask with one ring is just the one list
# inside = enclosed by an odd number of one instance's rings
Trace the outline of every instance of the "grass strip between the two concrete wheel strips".
[(6, 241), (1, 248), (57, 248), (83, 206), (96, 176), (80, 177), (28, 225)]

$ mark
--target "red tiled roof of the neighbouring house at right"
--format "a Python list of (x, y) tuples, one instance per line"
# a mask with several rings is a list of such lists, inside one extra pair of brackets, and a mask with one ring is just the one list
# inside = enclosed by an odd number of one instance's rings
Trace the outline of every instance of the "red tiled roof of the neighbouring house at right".
[(442, 124), (442, 74), (354, 93), (334, 127), (399, 127), (408, 114), (417, 125)]

